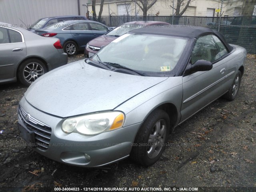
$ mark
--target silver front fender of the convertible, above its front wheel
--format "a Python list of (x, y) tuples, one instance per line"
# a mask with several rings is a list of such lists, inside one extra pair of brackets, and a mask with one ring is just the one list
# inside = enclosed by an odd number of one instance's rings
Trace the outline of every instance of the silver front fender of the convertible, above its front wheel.
[(148, 115), (162, 104), (174, 104), (178, 111), (176, 124), (180, 120), (180, 108), (182, 103), (183, 83), (182, 76), (170, 77), (152, 88), (138, 94), (126, 101), (114, 110), (123, 111), (126, 114), (124, 126), (143, 122)]

